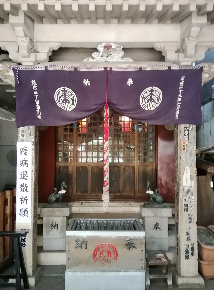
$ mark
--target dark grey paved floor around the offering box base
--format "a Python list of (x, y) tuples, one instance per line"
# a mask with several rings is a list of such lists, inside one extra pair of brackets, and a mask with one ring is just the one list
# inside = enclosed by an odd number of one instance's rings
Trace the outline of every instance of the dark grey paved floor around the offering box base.
[[(64, 273), (65, 266), (40, 266), (42, 268), (42, 276), (35, 288), (30, 290), (64, 290)], [(14, 290), (14, 288), (0, 288), (1, 290)], [(166, 279), (150, 280), (151, 290), (168, 290)], [(172, 290), (184, 288), (177, 288), (173, 283)], [(187, 289), (187, 288), (185, 288)], [(188, 288), (189, 290), (196, 290), (196, 288)], [(214, 279), (205, 280), (206, 290), (214, 290)], [(108, 290), (108, 289), (106, 289)], [(131, 290), (131, 289), (130, 289)]]

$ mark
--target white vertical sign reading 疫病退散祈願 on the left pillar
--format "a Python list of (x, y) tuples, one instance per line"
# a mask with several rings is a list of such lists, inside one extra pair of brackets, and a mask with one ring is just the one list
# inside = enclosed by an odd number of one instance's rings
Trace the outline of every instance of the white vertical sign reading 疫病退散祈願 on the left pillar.
[(17, 142), (16, 228), (31, 228), (32, 142)]

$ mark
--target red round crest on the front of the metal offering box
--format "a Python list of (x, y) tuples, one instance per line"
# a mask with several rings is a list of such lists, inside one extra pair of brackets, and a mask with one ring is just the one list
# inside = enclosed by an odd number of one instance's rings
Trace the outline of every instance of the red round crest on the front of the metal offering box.
[(117, 261), (118, 253), (117, 249), (111, 244), (98, 245), (93, 253), (93, 259), (99, 263), (100, 266), (110, 266)]

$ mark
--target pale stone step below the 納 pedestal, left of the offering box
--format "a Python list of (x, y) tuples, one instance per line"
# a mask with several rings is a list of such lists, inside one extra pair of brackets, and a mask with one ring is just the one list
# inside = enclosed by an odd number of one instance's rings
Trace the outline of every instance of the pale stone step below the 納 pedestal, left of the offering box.
[(66, 251), (43, 251), (42, 247), (37, 247), (37, 264), (65, 265)]

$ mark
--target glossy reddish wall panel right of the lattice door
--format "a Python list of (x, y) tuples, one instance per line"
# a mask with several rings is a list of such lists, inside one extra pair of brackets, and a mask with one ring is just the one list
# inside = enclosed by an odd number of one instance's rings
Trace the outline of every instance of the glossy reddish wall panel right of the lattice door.
[(157, 186), (164, 202), (175, 202), (174, 130), (157, 126)]

